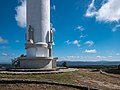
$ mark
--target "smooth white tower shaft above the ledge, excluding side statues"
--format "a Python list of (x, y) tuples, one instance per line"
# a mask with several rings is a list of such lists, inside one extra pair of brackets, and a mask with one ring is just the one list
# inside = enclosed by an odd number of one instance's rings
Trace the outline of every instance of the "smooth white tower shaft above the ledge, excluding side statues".
[(48, 42), (48, 32), (50, 31), (50, 0), (27, 0), (27, 27), (29, 25), (34, 29), (35, 43)]

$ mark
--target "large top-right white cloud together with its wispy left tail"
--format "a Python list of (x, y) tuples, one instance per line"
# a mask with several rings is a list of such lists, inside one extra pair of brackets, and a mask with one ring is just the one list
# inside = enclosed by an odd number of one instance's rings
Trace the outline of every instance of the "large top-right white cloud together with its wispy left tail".
[(108, 0), (96, 10), (95, 0), (88, 6), (86, 11), (87, 17), (96, 17), (97, 21), (103, 22), (119, 22), (120, 21), (120, 0)]

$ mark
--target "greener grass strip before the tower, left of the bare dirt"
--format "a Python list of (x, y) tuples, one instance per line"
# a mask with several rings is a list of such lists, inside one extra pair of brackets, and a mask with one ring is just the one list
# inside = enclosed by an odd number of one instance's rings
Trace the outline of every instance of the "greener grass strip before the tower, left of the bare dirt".
[(76, 78), (76, 76), (85, 77), (87, 76), (87, 74), (81, 73), (79, 71), (61, 74), (30, 74), (30, 75), (0, 74), (0, 79), (29, 79), (73, 84), (75, 83), (74, 78)]

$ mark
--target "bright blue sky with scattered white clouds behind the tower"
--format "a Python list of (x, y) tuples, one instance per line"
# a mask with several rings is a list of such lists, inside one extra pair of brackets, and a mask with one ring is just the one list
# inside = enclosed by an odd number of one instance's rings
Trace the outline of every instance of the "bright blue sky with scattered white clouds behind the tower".
[[(26, 2), (0, 2), (0, 63), (26, 54)], [(120, 61), (120, 0), (51, 0), (53, 56)]]

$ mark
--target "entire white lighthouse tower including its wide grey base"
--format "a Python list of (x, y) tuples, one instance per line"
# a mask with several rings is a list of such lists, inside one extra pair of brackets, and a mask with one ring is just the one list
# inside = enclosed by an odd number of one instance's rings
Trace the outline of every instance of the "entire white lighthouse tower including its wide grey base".
[(26, 57), (19, 57), (21, 68), (52, 69), (53, 33), (50, 27), (50, 0), (26, 0)]

